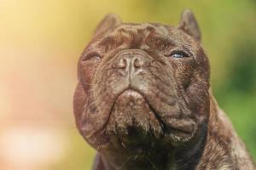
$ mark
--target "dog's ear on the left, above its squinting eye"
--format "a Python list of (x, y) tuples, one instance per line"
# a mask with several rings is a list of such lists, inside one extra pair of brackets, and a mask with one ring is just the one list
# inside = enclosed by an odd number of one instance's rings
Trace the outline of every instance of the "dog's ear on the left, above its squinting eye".
[(104, 31), (108, 31), (114, 26), (119, 26), (121, 23), (122, 21), (117, 14), (107, 14), (100, 22), (100, 24), (96, 27), (96, 30), (94, 31), (94, 36)]

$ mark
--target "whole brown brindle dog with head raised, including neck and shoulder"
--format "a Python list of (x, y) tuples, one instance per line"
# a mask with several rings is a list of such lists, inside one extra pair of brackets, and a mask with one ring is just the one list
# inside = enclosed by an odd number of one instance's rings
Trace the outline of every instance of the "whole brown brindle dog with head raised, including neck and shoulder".
[(94, 170), (254, 169), (210, 90), (194, 15), (177, 27), (109, 14), (79, 59), (74, 115)]

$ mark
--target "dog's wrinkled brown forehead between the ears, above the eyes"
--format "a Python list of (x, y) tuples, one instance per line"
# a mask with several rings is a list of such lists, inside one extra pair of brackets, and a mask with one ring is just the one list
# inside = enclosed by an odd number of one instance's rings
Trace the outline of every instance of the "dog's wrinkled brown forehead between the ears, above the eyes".
[(170, 32), (166, 26), (158, 24), (144, 23), (124, 24), (118, 26), (99, 42), (100, 45), (119, 46), (126, 44), (128, 48), (140, 48), (146, 42), (152, 47), (155, 45), (161, 48), (177, 46), (177, 42), (170, 37)]

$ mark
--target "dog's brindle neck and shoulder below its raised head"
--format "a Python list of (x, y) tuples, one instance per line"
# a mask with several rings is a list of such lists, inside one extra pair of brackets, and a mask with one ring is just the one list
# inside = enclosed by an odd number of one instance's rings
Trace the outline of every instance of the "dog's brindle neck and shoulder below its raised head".
[[(166, 161), (160, 161), (159, 165), (154, 163), (154, 165), (152, 165), (152, 170), (207, 169), (209, 166), (216, 167), (215, 169), (223, 169), (224, 167), (234, 169), (234, 167), (245, 166), (243, 163), (240, 165), (242, 161), (237, 160), (250, 160), (247, 153), (243, 153), (242, 156), (236, 155), (236, 150), (245, 150), (244, 145), (229, 140), (234, 139), (234, 141), (240, 141), (236, 136), (236, 133), (234, 133), (229, 119), (218, 108), (218, 104), (214, 97), (211, 95), (210, 98), (209, 122), (208, 126), (202, 128), (204, 132), (201, 132), (201, 138), (194, 141), (194, 144), (189, 144), (187, 147), (183, 147), (183, 149), (170, 150), (170, 153), (165, 159)], [(236, 145), (236, 150), (233, 150), (234, 159), (225, 156), (227, 153), (232, 154), (230, 144), (233, 143)], [(166, 150), (163, 150), (163, 153), (164, 152), (166, 152)], [(108, 159), (108, 157), (100, 156), (98, 154), (93, 170), (120, 169), (120, 167), (113, 167), (111, 162), (111, 159)], [(248, 167), (253, 167), (251, 161), (246, 163)], [(123, 164), (124, 165), (121, 166), (122, 170), (131, 170), (131, 167), (125, 167), (125, 162), (123, 162)], [(150, 164), (150, 162), (148, 162), (148, 164)], [(148, 168), (146, 169), (148, 170)], [(132, 168), (132, 170), (144, 169), (135, 167)]]

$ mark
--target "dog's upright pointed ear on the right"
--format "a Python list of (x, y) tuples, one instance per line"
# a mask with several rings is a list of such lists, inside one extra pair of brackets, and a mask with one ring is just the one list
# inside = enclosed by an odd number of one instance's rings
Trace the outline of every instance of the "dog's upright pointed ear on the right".
[(195, 40), (201, 41), (201, 31), (191, 10), (185, 9), (183, 11), (178, 28), (194, 37)]

